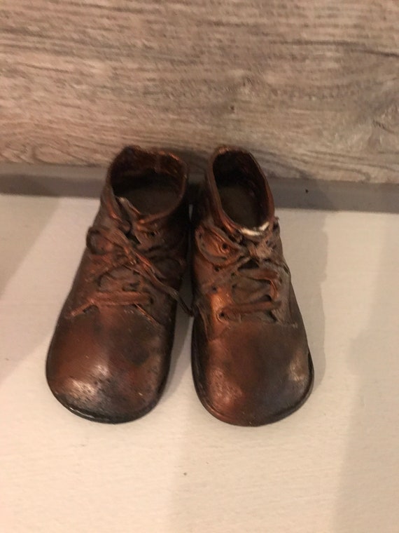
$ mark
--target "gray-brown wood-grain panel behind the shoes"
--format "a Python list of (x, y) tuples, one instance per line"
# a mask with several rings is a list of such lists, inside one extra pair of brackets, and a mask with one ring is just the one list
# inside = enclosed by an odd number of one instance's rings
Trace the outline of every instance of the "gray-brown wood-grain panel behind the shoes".
[(399, 182), (397, 0), (2, 0), (0, 161), (194, 170), (217, 144), (283, 177)]

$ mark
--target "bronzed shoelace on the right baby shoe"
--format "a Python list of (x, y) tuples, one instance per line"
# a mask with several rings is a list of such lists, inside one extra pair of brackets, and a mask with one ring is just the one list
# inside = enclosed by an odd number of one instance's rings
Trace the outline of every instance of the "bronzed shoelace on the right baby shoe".
[[(234, 289), (239, 285), (239, 280), (247, 279), (261, 283), (260, 287), (248, 292), (246, 302), (228, 304), (219, 311), (221, 318), (239, 318), (248, 313), (273, 311), (279, 308), (279, 286), (281, 276), (272, 268), (282, 268), (288, 271), (285, 262), (273, 257), (274, 246), (279, 237), (279, 224), (276, 220), (271, 222), (271, 229), (261, 236), (249, 236), (247, 234), (228, 235), (213, 224), (205, 224), (205, 229), (214, 235), (214, 243), (217, 243), (221, 255), (212, 255), (204, 245), (201, 234), (196, 236), (197, 245), (202, 255), (214, 265), (214, 271), (218, 274), (209, 282), (202, 285), (202, 293), (209, 295), (217, 291), (218, 285), (229, 283)], [(249, 264), (251, 263), (251, 267)], [(248, 265), (248, 267), (246, 267)]]

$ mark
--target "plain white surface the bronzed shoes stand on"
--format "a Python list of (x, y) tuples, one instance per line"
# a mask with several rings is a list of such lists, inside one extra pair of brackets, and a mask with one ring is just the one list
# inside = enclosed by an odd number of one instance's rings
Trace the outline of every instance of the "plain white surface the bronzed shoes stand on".
[(399, 216), (280, 210), (314, 392), (272, 426), (214, 419), (179, 313), (172, 372), (139, 421), (95, 424), (45, 355), (97, 201), (0, 197), (0, 531), (399, 531)]

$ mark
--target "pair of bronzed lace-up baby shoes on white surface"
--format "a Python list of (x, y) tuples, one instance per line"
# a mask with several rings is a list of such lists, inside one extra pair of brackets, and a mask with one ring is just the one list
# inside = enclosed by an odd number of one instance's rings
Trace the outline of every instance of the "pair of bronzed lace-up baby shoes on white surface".
[(204, 407), (260, 426), (309, 396), (313, 366), (265, 175), (247, 151), (217, 149), (191, 222), (187, 180), (165, 151), (127, 147), (111, 163), (47, 360), (52, 393), (82, 417), (125, 422), (158, 403), (190, 236)]

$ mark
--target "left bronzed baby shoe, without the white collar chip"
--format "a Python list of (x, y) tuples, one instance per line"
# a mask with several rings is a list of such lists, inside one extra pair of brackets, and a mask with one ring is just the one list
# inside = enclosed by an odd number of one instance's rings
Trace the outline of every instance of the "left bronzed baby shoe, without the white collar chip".
[(188, 244), (187, 170), (163, 151), (114, 159), (47, 360), (54, 396), (87, 419), (137, 419), (158, 402)]

